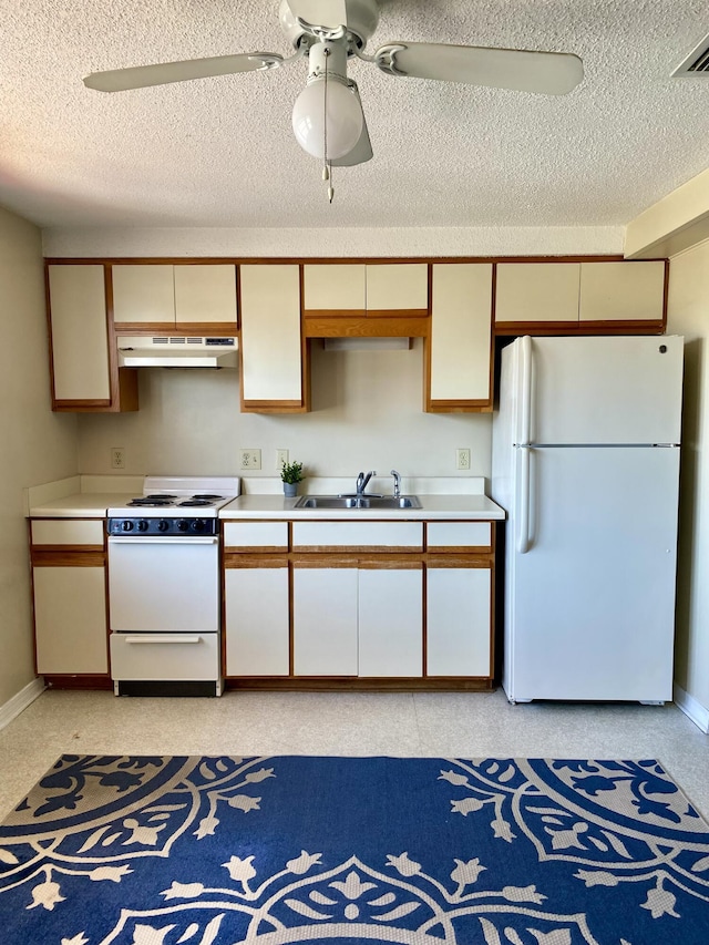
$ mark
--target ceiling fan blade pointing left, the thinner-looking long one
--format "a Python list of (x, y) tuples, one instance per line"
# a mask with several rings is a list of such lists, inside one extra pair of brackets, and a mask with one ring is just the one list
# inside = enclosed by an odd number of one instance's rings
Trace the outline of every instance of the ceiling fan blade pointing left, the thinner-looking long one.
[(91, 75), (85, 76), (84, 85), (88, 89), (96, 89), (99, 92), (125, 92), (129, 89), (166, 85), (168, 82), (186, 82), (191, 79), (207, 79), (212, 75), (274, 69), (282, 62), (282, 55), (275, 52), (214, 55), (208, 59), (187, 59), (183, 62), (160, 62), (155, 65), (135, 65), (129, 69), (92, 72)]

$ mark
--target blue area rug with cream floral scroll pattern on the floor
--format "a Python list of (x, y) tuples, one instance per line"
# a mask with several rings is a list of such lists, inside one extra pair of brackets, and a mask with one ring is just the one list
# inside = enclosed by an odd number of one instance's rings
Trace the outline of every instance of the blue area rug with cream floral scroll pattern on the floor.
[(707, 945), (657, 761), (62, 757), (0, 826), (2, 945)]

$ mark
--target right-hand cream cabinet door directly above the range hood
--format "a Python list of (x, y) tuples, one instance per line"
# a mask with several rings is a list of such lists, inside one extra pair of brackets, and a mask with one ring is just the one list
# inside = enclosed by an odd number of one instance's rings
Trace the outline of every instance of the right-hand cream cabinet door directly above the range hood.
[(236, 328), (236, 266), (174, 267), (175, 322), (233, 322)]

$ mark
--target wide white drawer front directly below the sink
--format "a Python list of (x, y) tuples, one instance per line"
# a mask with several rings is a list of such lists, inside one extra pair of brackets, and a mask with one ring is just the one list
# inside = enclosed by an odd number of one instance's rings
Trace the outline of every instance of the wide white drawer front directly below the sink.
[(421, 522), (294, 522), (294, 548), (423, 547)]

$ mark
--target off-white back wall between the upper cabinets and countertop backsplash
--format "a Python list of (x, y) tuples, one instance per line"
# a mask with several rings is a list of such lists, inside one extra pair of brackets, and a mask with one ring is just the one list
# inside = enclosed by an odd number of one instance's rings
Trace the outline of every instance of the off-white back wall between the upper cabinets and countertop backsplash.
[[(471, 450), (472, 475), (490, 475), (490, 414), (423, 413), (423, 349), (311, 351), (312, 412), (239, 412), (235, 370), (142, 369), (137, 413), (82, 415), (80, 468), (110, 472), (112, 446), (126, 450), (127, 473), (238, 474), (239, 448), (261, 450), (274, 476), (276, 450), (310, 474), (359, 470), (402, 475), (462, 475), (455, 449)], [(259, 475), (259, 473), (249, 473)]]

